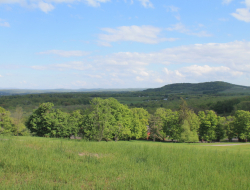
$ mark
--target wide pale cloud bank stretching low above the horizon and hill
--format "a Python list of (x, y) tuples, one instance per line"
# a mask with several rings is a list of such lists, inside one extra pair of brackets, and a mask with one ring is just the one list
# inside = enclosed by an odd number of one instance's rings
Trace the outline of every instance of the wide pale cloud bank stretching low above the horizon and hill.
[(94, 86), (94, 83), (105, 87), (129, 87), (131, 84), (135, 85), (133, 87), (141, 84), (149, 87), (247, 77), (250, 73), (249, 55), (250, 42), (234, 41), (179, 46), (151, 53), (118, 52), (91, 56), (86, 61), (36, 65), (32, 68), (79, 72), (79, 76), (88, 81), (86, 87)]

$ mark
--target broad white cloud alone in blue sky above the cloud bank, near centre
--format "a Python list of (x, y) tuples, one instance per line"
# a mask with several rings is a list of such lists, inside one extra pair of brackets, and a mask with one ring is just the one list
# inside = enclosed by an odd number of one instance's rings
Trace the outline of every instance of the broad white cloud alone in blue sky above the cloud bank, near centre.
[(108, 34), (100, 34), (99, 39), (106, 46), (110, 42), (134, 41), (156, 44), (164, 41), (175, 41), (176, 38), (160, 38), (162, 29), (153, 26), (121, 26), (118, 28), (102, 28)]

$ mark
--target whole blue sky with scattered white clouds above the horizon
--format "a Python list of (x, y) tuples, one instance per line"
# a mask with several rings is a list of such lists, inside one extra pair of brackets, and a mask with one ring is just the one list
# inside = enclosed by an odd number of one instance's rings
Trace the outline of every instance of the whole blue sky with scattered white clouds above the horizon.
[(0, 0), (0, 88), (250, 86), (250, 0)]

